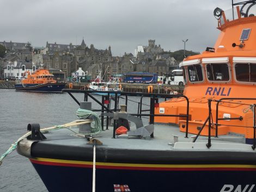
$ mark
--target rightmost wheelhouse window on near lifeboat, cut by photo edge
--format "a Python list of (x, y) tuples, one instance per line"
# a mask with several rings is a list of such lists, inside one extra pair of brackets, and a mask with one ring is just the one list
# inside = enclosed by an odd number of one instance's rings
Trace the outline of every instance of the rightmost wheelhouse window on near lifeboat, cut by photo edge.
[(239, 82), (256, 82), (256, 64), (235, 64), (235, 76)]

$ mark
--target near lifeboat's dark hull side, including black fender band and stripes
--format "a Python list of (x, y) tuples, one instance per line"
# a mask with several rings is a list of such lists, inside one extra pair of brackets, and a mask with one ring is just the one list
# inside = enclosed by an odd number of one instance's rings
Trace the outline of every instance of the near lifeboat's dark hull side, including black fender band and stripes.
[[(48, 149), (48, 150), (47, 150)], [(51, 149), (51, 150), (49, 150)], [(49, 191), (92, 191), (93, 147), (34, 143), (31, 162)], [(241, 151), (157, 151), (96, 147), (96, 191), (254, 189), (256, 156)], [(118, 190), (120, 185), (123, 189)], [(227, 187), (227, 188), (226, 188)], [(126, 191), (129, 191), (126, 190)]]

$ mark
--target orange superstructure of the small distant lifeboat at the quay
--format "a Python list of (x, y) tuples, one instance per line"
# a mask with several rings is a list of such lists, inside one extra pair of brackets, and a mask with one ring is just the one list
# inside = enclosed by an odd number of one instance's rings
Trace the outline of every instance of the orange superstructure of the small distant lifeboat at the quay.
[(27, 78), (21, 81), (22, 84), (46, 84), (46, 83), (57, 83), (53, 79), (53, 75), (45, 69), (36, 70), (35, 73), (27, 73)]

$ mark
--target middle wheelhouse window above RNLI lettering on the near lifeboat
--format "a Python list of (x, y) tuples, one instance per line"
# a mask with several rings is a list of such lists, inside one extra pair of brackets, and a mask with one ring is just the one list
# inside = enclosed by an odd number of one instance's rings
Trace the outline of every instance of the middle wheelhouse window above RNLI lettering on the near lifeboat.
[(208, 64), (206, 65), (206, 72), (209, 80), (228, 81), (230, 79), (228, 64)]

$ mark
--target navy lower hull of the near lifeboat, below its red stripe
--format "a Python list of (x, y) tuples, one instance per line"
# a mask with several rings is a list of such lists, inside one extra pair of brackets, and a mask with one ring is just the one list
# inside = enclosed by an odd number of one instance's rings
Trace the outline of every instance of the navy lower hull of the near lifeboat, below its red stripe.
[[(76, 166), (33, 166), (44, 181), (48, 191), (92, 191), (92, 168)], [(256, 191), (255, 171), (218, 169), (178, 170), (123, 170), (102, 169), (96, 166), (96, 191), (234, 191), (247, 188)], [(115, 186), (114, 186), (115, 185)], [(120, 187), (119, 187), (119, 186)], [(125, 187), (124, 187), (125, 186)], [(233, 190), (228, 190), (232, 188)], [(126, 189), (126, 190), (125, 190)], [(250, 191), (250, 192), (251, 192)]]

